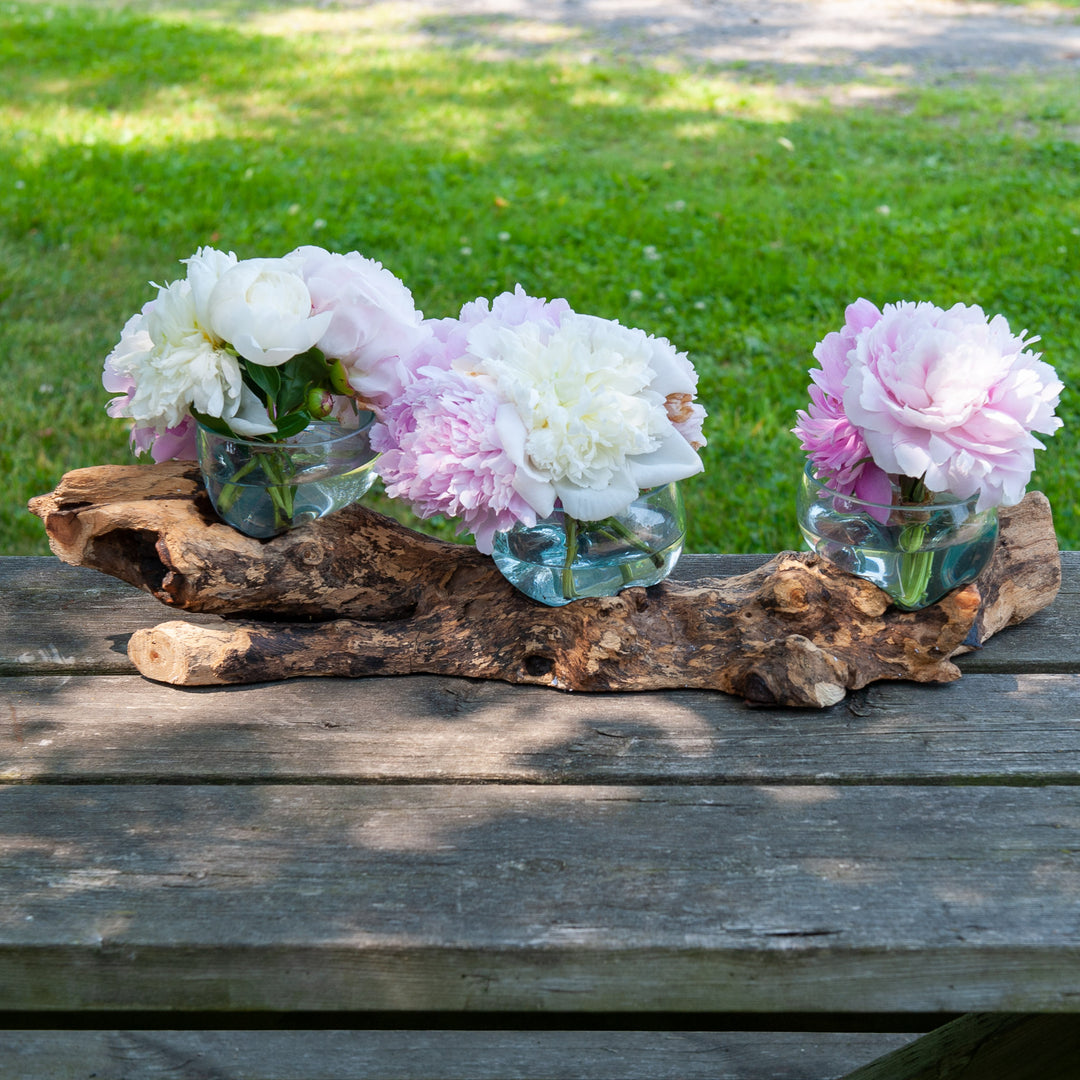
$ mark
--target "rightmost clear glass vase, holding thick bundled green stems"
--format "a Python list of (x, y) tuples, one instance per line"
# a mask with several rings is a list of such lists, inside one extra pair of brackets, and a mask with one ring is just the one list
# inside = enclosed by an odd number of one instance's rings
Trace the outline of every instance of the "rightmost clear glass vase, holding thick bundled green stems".
[(935, 492), (929, 503), (867, 502), (832, 490), (807, 462), (799, 485), (799, 528), (811, 551), (873, 581), (905, 611), (935, 604), (974, 581), (994, 554), (998, 516), (975, 512), (978, 496)]

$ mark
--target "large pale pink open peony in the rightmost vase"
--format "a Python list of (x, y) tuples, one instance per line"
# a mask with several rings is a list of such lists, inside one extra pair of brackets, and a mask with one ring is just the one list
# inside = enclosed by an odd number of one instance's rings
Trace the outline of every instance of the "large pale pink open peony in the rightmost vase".
[(843, 414), (883, 472), (960, 499), (978, 492), (978, 510), (1012, 505), (1043, 448), (1032, 432), (1062, 423), (1062, 383), (1034, 340), (974, 306), (887, 305), (848, 350)]

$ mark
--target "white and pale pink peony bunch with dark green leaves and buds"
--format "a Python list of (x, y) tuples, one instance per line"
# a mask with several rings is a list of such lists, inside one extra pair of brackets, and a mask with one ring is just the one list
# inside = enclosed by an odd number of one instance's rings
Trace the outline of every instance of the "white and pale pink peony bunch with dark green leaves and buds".
[(281, 442), (313, 420), (345, 421), (401, 388), (423, 338), (402, 282), (353, 252), (299, 247), (238, 259), (201, 247), (158, 286), (105, 361), (110, 416), (154, 461), (194, 457), (195, 423)]

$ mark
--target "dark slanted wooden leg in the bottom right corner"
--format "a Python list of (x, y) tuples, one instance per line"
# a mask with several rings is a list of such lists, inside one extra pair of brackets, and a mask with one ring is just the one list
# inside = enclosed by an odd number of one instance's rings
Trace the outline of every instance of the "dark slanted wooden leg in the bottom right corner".
[(1080, 1016), (969, 1013), (843, 1080), (1077, 1080)]

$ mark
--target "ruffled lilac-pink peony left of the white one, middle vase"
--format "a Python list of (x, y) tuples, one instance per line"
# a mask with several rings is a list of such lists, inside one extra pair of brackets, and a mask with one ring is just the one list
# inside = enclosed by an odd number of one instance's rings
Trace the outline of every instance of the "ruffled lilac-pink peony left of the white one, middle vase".
[(508, 455), (508, 445), (524, 443), (524, 428), (476, 379), (437, 368), (421, 375), (372, 429), (379, 475), (391, 498), (421, 517), (459, 518), (460, 531), (490, 554), (496, 532), (536, 524), (514, 487), (519, 451)]

